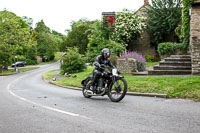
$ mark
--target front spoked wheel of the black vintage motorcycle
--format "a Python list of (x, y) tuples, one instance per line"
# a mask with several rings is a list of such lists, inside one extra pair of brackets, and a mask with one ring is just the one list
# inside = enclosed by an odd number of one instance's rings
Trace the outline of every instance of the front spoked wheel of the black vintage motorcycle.
[(109, 87), (108, 97), (112, 102), (121, 101), (127, 92), (127, 82), (124, 78), (117, 79)]

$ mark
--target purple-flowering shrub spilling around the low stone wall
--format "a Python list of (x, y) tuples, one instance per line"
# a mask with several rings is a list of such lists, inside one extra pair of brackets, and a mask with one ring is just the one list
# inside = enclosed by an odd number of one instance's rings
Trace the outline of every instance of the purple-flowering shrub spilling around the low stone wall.
[(120, 58), (134, 58), (137, 60), (137, 70), (144, 71), (146, 66), (146, 59), (142, 54), (137, 52), (127, 51)]

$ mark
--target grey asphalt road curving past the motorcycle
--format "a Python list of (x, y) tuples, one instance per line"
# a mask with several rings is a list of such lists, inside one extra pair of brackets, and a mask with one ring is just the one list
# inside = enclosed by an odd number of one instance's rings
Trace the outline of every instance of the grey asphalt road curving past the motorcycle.
[(199, 133), (200, 103), (126, 96), (84, 98), (48, 84), (43, 73), (58, 63), (0, 76), (0, 133)]

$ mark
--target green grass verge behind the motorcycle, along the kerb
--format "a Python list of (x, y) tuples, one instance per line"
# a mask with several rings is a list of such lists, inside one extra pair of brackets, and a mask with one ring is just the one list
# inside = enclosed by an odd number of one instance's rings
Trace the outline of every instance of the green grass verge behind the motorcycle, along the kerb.
[[(81, 81), (92, 74), (93, 67), (85, 72), (75, 73), (76, 78), (53, 81), (63, 86), (81, 87)], [(46, 73), (53, 78), (53, 71)], [(44, 76), (45, 76), (44, 75)], [(48, 78), (48, 76), (46, 78)], [(132, 76), (123, 75), (128, 83), (129, 92), (167, 94), (169, 98), (188, 98), (200, 101), (200, 76)]]

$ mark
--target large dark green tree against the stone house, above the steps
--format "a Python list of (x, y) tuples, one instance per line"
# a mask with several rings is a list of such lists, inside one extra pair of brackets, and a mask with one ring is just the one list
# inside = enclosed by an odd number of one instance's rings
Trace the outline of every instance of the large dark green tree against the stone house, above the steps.
[(157, 45), (165, 41), (166, 36), (174, 34), (181, 22), (181, 0), (152, 0), (146, 12), (149, 16), (147, 29), (152, 35), (152, 43)]

